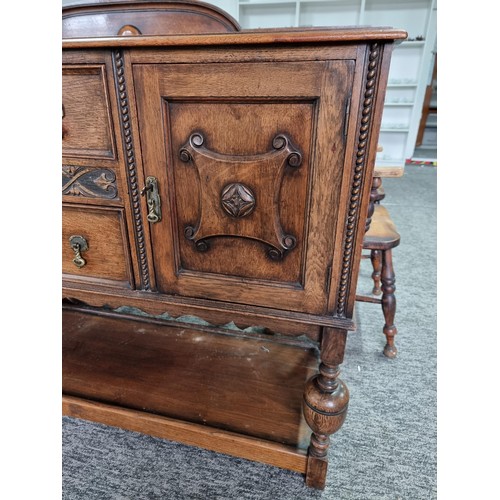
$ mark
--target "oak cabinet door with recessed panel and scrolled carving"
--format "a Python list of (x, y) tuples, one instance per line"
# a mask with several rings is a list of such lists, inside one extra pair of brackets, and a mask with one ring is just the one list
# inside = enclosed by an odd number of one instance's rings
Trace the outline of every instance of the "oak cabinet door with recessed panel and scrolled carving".
[(354, 62), (133, 71), (158, 290), (325, 312)]

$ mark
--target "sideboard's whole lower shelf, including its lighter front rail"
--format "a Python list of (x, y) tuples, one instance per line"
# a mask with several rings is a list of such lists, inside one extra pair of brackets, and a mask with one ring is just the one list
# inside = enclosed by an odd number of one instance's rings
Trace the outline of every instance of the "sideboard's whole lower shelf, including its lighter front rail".
[(305, 472), (315, 346), (63, 310), (64, 414)]

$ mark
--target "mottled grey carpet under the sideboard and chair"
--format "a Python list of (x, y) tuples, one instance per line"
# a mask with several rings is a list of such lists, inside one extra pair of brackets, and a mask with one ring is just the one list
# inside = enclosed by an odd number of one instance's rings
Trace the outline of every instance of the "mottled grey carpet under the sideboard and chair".
[[(332, 438), (323, 492), (293, 472), (66, 417), (63, 499), (436, 498), (436, 174), (408, 166), (403, 178), (384, 180), (401, 233), (399, 354), (381, 354), (380, 307), (358, 304), (341, 375), (349, 412)], [(363, 261), (360, 291), (371, 289), (370, 272)]]

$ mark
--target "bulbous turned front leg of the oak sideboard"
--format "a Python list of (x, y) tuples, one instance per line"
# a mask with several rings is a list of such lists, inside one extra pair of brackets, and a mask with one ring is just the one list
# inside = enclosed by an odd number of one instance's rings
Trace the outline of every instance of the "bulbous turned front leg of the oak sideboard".
[(309, 379), (304, 392), (304, 416), (313, 431), (306, 484), (313, 488), (325, 487), (330, 434), (337, 432), (344, 423), (349, 403), (347, 386), (338, 378), (346, 333), (345, 330), (323, 329), (319, 373)]

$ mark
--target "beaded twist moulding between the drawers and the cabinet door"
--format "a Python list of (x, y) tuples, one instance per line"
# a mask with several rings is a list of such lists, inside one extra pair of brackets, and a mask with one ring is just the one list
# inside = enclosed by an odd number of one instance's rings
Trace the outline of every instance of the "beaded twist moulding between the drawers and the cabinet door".
[(134, 217), (134, 230), (139, 252), (139, 262), (141, 266), (142, 288), (150, 290), (149, 268), (146, 255), (146, 245), (144, 238), (144, 226), (142, 223), (141, 201), (139, 186), (137, 184), (137, 167), (135, 164), (134, 141), (130, 129), (129, 99), (127, 93), (127, 83), (125, 81), (123, 69), (123, 54), (121, 50), (114, 53), (114, 71), (116, 74), (118, 101), (120, 104), (120, 125), (124, 140), (124, 149), (127, 162), (127, 176), (132, 195), (132, 212)]

